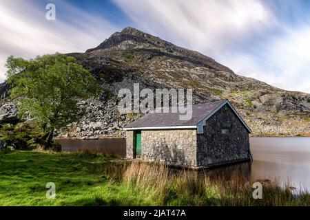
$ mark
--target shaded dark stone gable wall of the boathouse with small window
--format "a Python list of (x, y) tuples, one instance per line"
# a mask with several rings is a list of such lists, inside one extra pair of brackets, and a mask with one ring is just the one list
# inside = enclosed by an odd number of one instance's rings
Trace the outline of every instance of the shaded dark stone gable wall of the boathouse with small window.
[[(222, 134), (222, 128), (231, 129), (231, 133)], [(223, 107), (207, 120), (204, 133), (197, 135), (197, 142), (198, 166), (250, 158), (249, 133), (229, 107)]]

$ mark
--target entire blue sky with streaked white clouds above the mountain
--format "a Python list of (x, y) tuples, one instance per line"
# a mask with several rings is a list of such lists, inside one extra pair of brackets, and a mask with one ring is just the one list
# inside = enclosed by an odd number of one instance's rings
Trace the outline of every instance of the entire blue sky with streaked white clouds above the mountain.
[[(48, 3), (55, 19), (46, 19)], [(0, 0), (0, 83), (6, 58), (85, 52), (131, 26), (234, 70), (310, 93), (307, 0)]]

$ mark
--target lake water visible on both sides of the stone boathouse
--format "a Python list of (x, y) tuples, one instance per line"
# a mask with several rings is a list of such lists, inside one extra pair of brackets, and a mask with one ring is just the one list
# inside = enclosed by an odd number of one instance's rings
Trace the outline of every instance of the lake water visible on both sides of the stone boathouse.
[[(63, 151), (87, 147), (125, 157), (125, 139), (59, 140)], [(249, 179), (277, 179), (280, 184), (310, 191), (310, 137), (251, 137), (252, 163), (235, 164), (210, 170), (210, 173), (241, 175)]]

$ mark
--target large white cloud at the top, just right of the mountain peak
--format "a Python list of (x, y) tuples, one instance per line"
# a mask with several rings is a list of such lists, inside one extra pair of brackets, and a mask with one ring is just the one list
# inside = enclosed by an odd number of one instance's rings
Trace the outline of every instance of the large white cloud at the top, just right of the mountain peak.
[(258, 0), (115, 0), (139, 28), (193, 50), (218, 53), (276, 22)]

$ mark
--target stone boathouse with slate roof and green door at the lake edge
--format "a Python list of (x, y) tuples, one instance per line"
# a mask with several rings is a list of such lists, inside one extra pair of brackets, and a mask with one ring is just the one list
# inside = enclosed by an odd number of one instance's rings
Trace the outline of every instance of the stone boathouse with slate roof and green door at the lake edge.
[(251, 129), (228, 100), (194, 104), (192, 119), (148, 113), (126, 130), (126, 157), (205, 168), (251, 158)]

